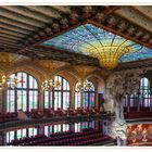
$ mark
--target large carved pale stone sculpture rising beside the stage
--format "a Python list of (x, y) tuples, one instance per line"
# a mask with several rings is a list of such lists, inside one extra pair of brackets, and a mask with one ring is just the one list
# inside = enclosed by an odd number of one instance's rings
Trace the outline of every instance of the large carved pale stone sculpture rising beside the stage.
[(123, 98), (139, 89), (139, 81), (143, 71), (116, 72), (106, 81), (104, 109), (115, 113), (115, 119), (110, 123), (110, 136), (126, 139), (127, 124), (123, 112)]

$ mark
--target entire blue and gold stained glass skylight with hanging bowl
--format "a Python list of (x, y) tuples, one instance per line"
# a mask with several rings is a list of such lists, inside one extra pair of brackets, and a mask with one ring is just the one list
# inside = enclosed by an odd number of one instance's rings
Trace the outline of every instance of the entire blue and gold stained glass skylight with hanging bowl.
[(91, 24), (49, 39), (42, 46), (98, 58), (100, 65), (105, 68), (114, 68), (122, 62), (152, 58), (151, 49)]

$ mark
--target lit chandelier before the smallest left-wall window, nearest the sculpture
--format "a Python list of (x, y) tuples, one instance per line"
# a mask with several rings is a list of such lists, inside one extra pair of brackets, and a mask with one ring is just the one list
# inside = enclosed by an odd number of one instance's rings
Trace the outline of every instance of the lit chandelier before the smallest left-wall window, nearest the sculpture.
[(93, 89), (93, 85), (91, 81), (89, 80), (85, 80), (84, 83), (78, 81), (76, 84), (76, 91), (80, 92), (80, 91), (90, 91)]

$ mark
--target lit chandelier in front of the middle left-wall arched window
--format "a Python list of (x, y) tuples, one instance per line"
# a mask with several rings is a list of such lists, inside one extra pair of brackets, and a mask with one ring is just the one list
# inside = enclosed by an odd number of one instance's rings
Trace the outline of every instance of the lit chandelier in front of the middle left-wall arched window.
[(45, 80), (41, 85), (41, 88), (43, 91), (49, 91), (52, 90), (53, 88), (60, 88), (61, 87), (61, 81), (60, 80)]

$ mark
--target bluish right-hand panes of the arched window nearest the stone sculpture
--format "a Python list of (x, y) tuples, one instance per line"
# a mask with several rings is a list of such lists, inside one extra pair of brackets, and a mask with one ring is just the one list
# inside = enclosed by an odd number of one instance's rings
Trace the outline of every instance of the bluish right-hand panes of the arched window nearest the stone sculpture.
[[(91, 83), (91, 81), (89, 81)], [(91, 83), (92, 84), (92, 83)], [(93, 86), (93, 84), (92, 84)], [(91, 107), (96, 105), (96, 88), (94, 86), (91, 88), (91, 90), (85, 90), (83, 93), (83, 107)]]

